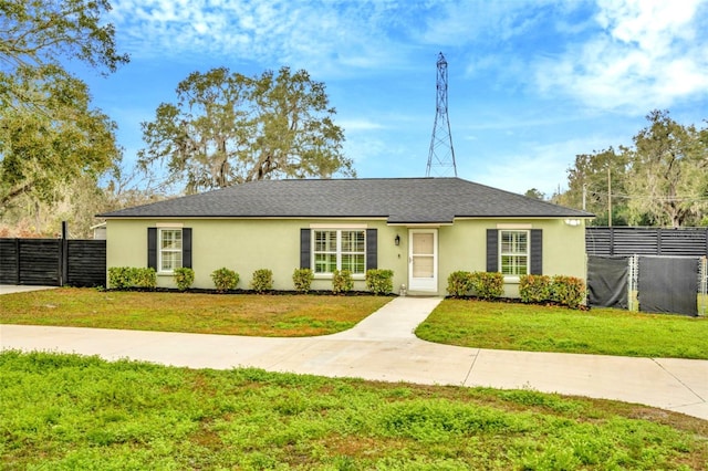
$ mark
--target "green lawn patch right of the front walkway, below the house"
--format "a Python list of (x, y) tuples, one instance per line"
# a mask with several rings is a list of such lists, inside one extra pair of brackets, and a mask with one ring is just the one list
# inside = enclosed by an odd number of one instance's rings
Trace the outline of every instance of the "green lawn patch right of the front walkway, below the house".
[(708, 359), (708, 320), (468, 300), (442, 301), (416, 329), (465, 347)]

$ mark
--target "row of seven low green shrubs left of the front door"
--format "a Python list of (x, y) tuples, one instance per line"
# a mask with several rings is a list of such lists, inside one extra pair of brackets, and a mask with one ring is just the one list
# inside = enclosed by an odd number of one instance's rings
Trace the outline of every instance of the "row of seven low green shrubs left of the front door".
[[(186, 291), (195, 282), (195, 271), (188, 268), (176, 269), (174, 273), (175, 284), (180, 291)], [(392, 270), (368, 270), (366, 272), (366, 289), (372, 293), (388, 294), (393, 292)], [(211, 272), (211, 281), (218, 292), (236, 290), (240, 276), (233, 270), (221, 268)], [(314, 273), (311, 269), (295, 269), (292, 281), (295, 291), (308, 293), (311, 291)], [(155, 269), (137, 269), (131, 266), (111, 266), (108, 269), (108, 285), (116, 290), (132, 287), (157, 287), (157, 273)], [(268, 269), (256, 270), (250, 282), (250, 289), (257, 293), (263, 293), (273, 289), (273, 272)], [(352, 272), (348, 270), (335, 270), (332, 275), (332, 292), (346, 293), (354, 289)]]

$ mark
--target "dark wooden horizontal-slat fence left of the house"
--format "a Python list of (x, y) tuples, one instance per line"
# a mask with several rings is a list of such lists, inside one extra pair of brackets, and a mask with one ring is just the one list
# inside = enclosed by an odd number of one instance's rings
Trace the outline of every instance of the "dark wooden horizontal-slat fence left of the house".
[(0, 284), (105, 286), (106, 241), (0, 239)]

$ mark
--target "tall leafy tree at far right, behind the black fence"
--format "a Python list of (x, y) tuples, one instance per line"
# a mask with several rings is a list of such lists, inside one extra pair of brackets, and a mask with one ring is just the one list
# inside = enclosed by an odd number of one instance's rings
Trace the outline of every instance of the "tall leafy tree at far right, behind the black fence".
[(647, 115), (649, 125), (635, 137), (629, 168), (632, 221), (659, 226), (698, 223), (708, 207), (706, 130), (683, 126), (667, 111)]

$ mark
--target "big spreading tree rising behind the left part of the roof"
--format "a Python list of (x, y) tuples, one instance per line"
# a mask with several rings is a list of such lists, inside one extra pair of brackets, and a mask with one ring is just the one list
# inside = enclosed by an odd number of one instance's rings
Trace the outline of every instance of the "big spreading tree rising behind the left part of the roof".
[(282, 67), (247, 77), (226, 67), (194, 72), (177, 103), (143, 123), (145, 169), (166, 165), (168, 181), (187, 192), (271, 178), (354, 176), (342, 154), (324, 84)]

